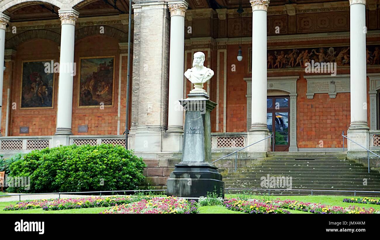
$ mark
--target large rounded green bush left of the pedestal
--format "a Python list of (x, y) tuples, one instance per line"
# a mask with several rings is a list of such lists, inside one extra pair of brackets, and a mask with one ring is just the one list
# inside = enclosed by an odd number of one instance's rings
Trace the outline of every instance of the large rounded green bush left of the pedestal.
[[(10, 165), (9, 176), (30, 177), (12, 193), (131, 190), (144, 180), (142, 158), (120, 145), (70, 145), (34, 150)], [(102, 185), (102, 179), (104, 185)]]

